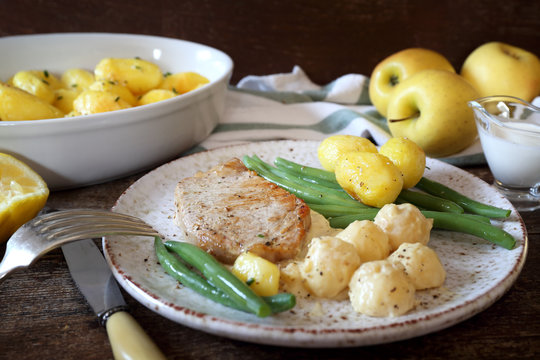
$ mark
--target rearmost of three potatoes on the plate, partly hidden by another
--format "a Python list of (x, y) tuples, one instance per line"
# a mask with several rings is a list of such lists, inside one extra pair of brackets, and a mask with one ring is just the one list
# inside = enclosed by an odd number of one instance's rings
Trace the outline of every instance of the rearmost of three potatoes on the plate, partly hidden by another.
[(377, 147), (368, 139), (354, 135), (333, 135), (324, 139), (318, 149), (319, 162), (328, 171), (334, 171), (341, 156), (349, 152), (377, 152)]

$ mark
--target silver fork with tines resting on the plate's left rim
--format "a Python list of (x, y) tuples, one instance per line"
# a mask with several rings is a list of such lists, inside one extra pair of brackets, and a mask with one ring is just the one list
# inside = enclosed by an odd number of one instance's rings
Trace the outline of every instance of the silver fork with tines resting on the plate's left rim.
[(126, 214), (99, 209), (44, 210), (9, 238), (0, 263), (0, 283), (64, 244), (115, 234), (159, 236), (143, 220)]

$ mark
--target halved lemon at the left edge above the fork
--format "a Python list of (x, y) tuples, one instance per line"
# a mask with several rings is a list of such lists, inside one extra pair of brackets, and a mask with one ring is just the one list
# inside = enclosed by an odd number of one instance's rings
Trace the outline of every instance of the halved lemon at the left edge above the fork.
[(45, 206), (49, 188), (32, 168), (0, 153), (0, 242)]

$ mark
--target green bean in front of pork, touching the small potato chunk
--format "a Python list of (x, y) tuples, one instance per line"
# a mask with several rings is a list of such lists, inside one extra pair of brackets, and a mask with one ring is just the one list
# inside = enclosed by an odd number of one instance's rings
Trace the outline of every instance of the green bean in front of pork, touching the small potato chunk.
[(270, 306), (260, 296), (206, 251), (195, 245), (178, 241), (167, 241), (165, 247), (194, 266), (210, 284), (226, 293), (239, 306), (247, 307), (259, 317), (271, 314)]

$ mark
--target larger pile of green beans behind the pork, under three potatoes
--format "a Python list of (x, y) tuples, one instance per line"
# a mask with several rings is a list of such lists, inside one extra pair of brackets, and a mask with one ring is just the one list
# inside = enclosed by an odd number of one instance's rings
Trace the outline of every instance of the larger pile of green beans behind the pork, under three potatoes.
[[(350, 197), (330, 171), (304, 166), (281, 157), (272, 166), (256, 155), (244, 156), (247, 168), (304, 200), (325, 216), (332, 227), (345, 228), (356, 220), (373, 220), (379, 208)], [(396, 203), (417, 206), (436, 229), (462, 232), (481, 237), (505, 249), (513, 249), (516, 240), (491, 224), (490, 219), (510, 216), (510, 210), (483, 204), (436, 181), (422, 178), (416, 190), (404, 189)]]

